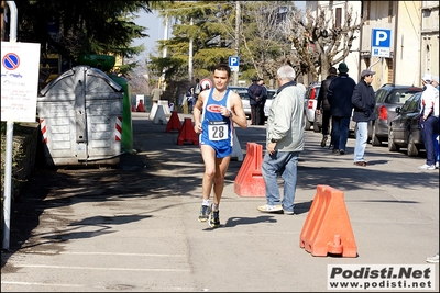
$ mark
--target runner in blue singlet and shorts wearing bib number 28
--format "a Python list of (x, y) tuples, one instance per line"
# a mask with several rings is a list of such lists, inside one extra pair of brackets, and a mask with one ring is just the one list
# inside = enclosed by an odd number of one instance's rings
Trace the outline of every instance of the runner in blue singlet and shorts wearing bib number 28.
[[(200, 92), (194, 108), (194, 129), (200, 134), (200, 150), (205, 162), (202, 180), (204, 200), (199, 222), (209, 218), (209, 226), (220, 226), (219, 205), (224, 187), (224, 176), (233, 151), (234, 126), (248, 127), (241, 98), (228, 89), (231, 68), (219, 64), (213, 69), (213, 88)], [(213, 192), (213, 202), (209, 196)]]

